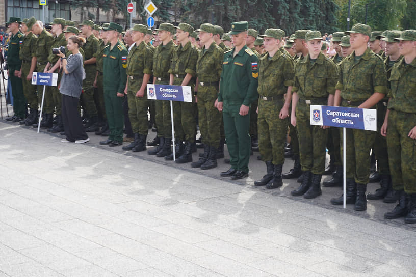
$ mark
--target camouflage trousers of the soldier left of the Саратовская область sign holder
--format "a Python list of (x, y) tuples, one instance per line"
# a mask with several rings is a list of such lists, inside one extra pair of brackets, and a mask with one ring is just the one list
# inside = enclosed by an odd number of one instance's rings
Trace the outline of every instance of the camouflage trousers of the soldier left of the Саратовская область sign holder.
[(322, 175), (325, 172), (325, 147), (328, 129), (310, 125), (309, 105), (296, 105), (296, 129), (299, 137), (299, 155), (302, 171)]

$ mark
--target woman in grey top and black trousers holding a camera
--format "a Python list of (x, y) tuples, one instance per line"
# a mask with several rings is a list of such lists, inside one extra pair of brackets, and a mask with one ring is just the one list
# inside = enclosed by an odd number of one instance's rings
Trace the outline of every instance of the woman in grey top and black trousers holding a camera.
[(79, 51), (83, 43), (85, 43), (84, 38), (72, 36), (68, 39), (67, 44), (68, 51), (72, 52), (68, 59), (61, 51), (58, 53), (58, 56), (61, 57), (61, 65), (64, 71), (59, 88), (62, 94), (62, 121), (66, 135), (66, 138), (61, 140), (63, 143), (86, 143), (90, 140), (84, 130), (81, 116), (78, 112), (82, 82), (85, 78), (83, 57)]

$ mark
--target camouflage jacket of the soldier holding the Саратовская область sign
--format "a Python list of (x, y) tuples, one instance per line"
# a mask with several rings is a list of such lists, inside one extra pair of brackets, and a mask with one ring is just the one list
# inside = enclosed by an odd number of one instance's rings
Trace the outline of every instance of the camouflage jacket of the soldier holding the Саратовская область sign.
[(387, 93), (387, 78), (384, 62), (370, 48), (355, 61), (355, 52), (345, 57), (335, 89), (347, 101), (365, 101), (374, 92)]

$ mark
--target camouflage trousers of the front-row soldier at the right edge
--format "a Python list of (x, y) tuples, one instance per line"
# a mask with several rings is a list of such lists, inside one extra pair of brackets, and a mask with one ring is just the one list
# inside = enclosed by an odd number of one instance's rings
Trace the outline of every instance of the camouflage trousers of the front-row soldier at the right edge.
[(393, 188), (416, 193), (416, 140), (408, 137), (414, 128), (416, 114), (390, 110), (388, 115), (387, 149), (388, 164)]

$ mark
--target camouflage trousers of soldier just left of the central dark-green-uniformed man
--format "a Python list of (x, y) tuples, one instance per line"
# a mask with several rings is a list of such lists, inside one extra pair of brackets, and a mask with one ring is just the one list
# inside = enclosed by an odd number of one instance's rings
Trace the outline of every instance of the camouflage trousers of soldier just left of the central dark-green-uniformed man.
[(214, 107), (216, 99), (216, 90), (213, 93), (203, 93), (200, 90), (197, 107), (202, 143), (219, 147), (221, 139), (221, 131), (219, 127), (221, 126), (222, 116), (221, 112)]

